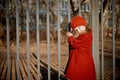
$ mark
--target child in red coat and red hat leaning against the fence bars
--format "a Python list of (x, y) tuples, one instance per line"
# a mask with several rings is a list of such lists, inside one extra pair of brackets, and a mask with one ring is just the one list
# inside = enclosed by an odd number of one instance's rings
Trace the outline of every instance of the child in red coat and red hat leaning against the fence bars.
[(92, 30), (80, 16), (71, 19), (70, 27), (73, 31), (67, 33), (70, 53), (65, 76), (68, 80), (96, 80), (92, 57)]

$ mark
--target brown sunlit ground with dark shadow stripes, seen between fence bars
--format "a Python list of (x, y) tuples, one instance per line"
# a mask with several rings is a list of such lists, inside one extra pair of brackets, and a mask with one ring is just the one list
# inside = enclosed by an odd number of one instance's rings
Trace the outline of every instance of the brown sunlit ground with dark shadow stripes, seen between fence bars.
[[(101, 44), (100, 44), (101, 47)], [(104, 42), (104, 72), (105, 72), (105, 80), (111, 80), (112, 79), (112, 41), (111, 40), (105, 40)], [(120, 42), (119, 40), (116, 41), (116, 80), (120, 78)], [(47, 68), (48, 68), (48, 54), (47, 54), (47, 42), (46, 41), (41, 41), (40, 42), (40, 68), (41, 68), (41, 73), (40, 77), (42, 80), (47, 80)], [(60, 47), (60, 70), (61, 70), (61, 75), (64, 77), (64, 70), (67, 64), (68, 60), (68, 44), (66, 43), (61, 43)], [(6, 78), (6, 73), (7, 73), (7, 49), (5, 47), (0, 48), (0, 80), (7, 80)], [(100, 49), (100, 54), (101, 54), (101, 49)], [(12, 44), (10, 46), (10, 55), (11, 55), (11, 80), (16, 80), (16, 46)], [(38, 62), (37, 62), (37, 47), (36, 43), (34, 41), (31, 41), (30, 43), (30, 79), (31, 80), (36, 80), (37, 75), (38, 75)], [(21, 80), (26, 80), (27, 79), (27, 47), (26, 47), (26, 42), (20, 42), (20, 79)], [(101, 59), (101, 57), (100, 57)], [(55, 42), (50, 42), (50, 66), (51, 66), (51, 80), (56, 80), (58, 79), (58, 43)], [(101, 69), (101, 64), (100, 64), (100, 69)], [(101, 74), (101, 73), (100, 73)], [(101, 78), (101, 75), (100, 75)], [(63, 78), (64, 80), (64, 78)]]

